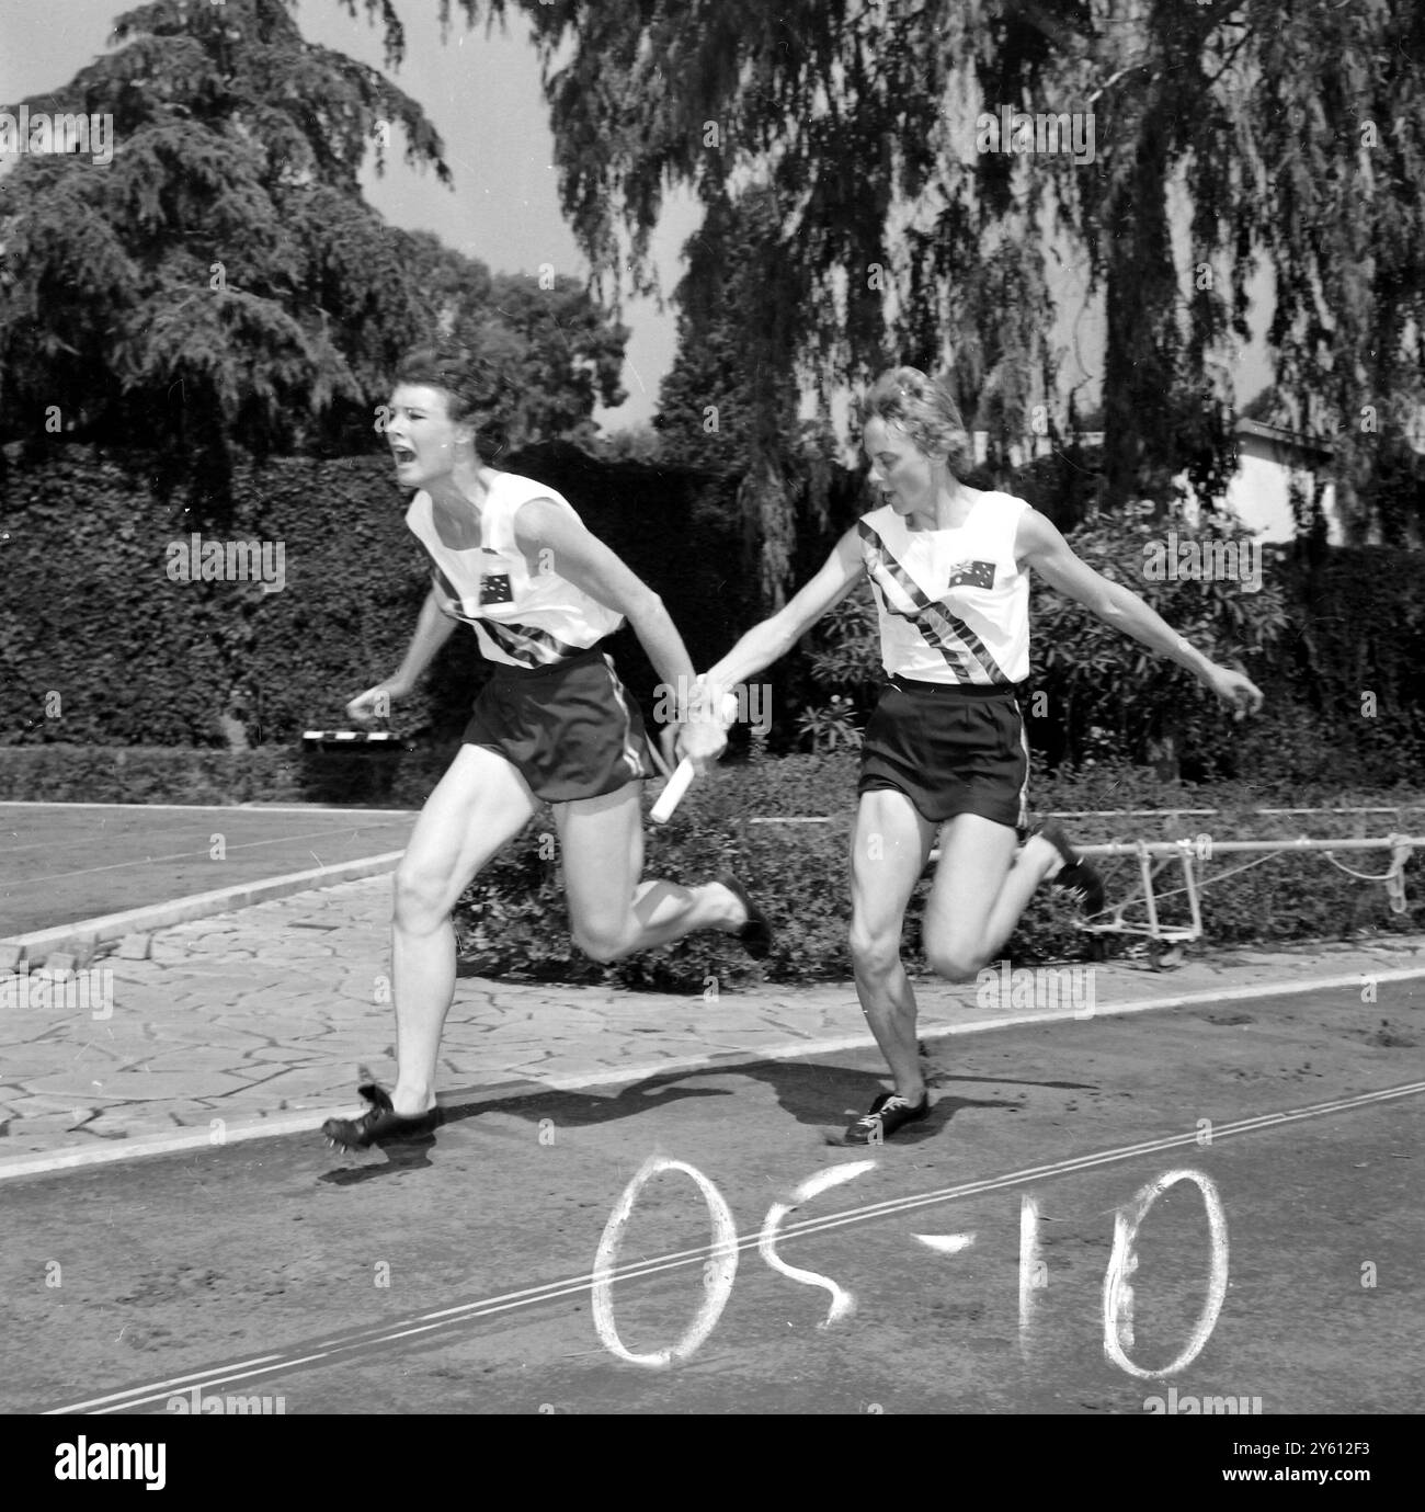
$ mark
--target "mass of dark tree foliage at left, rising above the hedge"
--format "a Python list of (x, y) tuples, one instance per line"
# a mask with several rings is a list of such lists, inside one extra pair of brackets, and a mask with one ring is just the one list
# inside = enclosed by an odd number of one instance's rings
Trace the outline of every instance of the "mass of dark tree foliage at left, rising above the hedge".
[[(5, 438), (153, 446), (218, 479), (233, 443), (351, 452), (400, 354), (441, 330), (478, 345), (515, 440), (588, 429), (623, 398), (627, 333), (580, 284), (491, 274), (363, 201), (363, 163), (379, 172), (396, 132), (449, 184), (440, 138), (293, 11), (156, 0), (24, 101), (112, 116), (113, 153), (26, 154), (0, 178)], [(388, 33), (388, 64), (402, 47)]]

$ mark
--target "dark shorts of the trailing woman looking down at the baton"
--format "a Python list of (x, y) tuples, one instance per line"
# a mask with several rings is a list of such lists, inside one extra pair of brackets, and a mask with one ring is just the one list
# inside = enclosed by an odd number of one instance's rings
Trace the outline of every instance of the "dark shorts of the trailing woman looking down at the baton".
[(1014, 688), (893, 677), (866, 726), (857, 792), (904, 792), (932, 824), (979, 813), (1020, 829), (1028, 783)]

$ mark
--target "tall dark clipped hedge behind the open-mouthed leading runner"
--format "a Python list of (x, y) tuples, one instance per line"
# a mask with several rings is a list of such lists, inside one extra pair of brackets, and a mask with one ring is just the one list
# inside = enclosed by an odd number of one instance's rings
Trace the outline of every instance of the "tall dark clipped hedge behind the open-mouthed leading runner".
[[(700, 665), (753, 621), (740, 532), (718, 487), (559, 443), (505, 466), (568, 494), (666, 599)], [(400, 664), (428, 588), (405, 499), (381, 457), (245, 460), (231, 505), (163, 496), (134, 454), (56, 446), (42, 463), (12, 458), (0, 745), (222, 748), (225, 718), (248, 744), (281, 745), (345, 724), (346, 703)], [(175, 547), (193, 534), (264, 546), (269, 565), (283, 565), (281, 591), (175, 579)], [(624, 629), (612, 650), (651, 714), (656, 677), (636, 637)], [(394, 727), (458, 738), (485, 674), (474, 635), (458, 627)]]

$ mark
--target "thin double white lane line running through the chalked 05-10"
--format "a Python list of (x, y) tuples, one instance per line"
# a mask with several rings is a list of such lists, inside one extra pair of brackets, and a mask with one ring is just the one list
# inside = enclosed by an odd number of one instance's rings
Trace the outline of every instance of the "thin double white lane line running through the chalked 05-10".
[[(1333, 1098), (1327, 1102), (1312, 1102), (1300, 1108), (1286, 1108), (1280, 1113), (1262, 1113), (1247, 1119), (1236, 1119), (1230, 1123), (1216, 1123), (1212, 1129), (1213, 1146), (1226, 1139), (1244, 1134), (1260, 1134), (1266, 1129), (1281, 1128), (1287, 1123), (1300, 1123), (1303, 1119), (1325, 1117), (1334, 1113), (1354, 1113), (1360, 1108), (1399, 1098), (1417, 1096), (1425, 1092), (1425, 1081), (1411, 1081), (1399, 1087), (1384, 1087), (1380, 1092), (1362, 1092), (1349, 1098)], [(960, 1198), (982, 1196), (990, 1191), (1002, 1191), (1026, 1181), (1047, 1181), (1055, 1176), (1068, 1176), (1082, 1170), (1094, 1170), (1102, 1166), (1118, 1164), (1126, 1160), (1136, 1160), (1141, 1155), (1159, 1154), (1162, 1151), (1197, 1146), (1200, 1131), (1194, 1126), (1185, 1134), (1168, 1134), (1162, 1139), (1142, 1140), (1136, 1145), (1120, 1145), (1111, 1149), (1094, 1151), (1088, 1155), (1074, 1155), (1067, 1160), (1050, 1161), (1044, 1166), (1028, 1166), (1023, 1170), (1011, 1170), (999, 1176), (985, 1176), (979, 1181), (966, 1181), (954, 1187), (940, 1187), (935, 1191), (922, 1191), (904, 1198), (890, 1198), (884, 1202), (867, 1202), (842, 1213), (831, 1213), (819, 1219), (802, 1219), (799, 1223), (787, 1223), (778, 1238), (786, 1241), (792, 1237), (822, 1234), (827, 1229), (843, 1228), (848, 1223), (866, 1223), (872, 1219), (884, 1219), (893, 1214), (911, 1213), (916, 1208), (929, 1207), (940, 1202), (954, 1202)], [(422, 1312), (411, 1318), (394, 1323), (351, 1329), (331, 1338), (314, 1340), (299, 1344), (286, 1355), (263, 1355), (257, 1361), (213, 1365), (207, 1371), (195, 1371), (183, 1377), (190, 1390), (193, 1385), (219, 1387), (236, 1380), (252, 1380), (257, 1376), (270, 1376), (280, 1371), (296, 1370), (301, 1365), (317, 1361), (335, 1359), (361, 1349), (373, 1349), (382, 1344), (393, 1344), (399, 1340), (414, 1338), (420, 1334), (431, 1334), (435, 1329), (459, 1328), (481, 1318), (493, 1317), (499, 1312), (509, 1312), (514, 1308), (535, 1306), (542, 1302), (556, 1302), (562, 1297), (577, 1296), (588, 1291), (595, 1279), (612, 1284), (615, 1281), (636, 1281), (644, 1276), (660, 1275), (668, 1270), (680, 1270), (688, 1266), (698, 1266), (715, 1252), (725, 1255), (730, 1249), (751, 1250), (760, 1243), (762, 1231), (739, 1235), (736, 1241), (700, 1244), (697, 1249), (674, 1250), (668, 1255), (657, 1255), (651, 1259), (632, 1261), (618, 1266), (615, 1270), (604, 1270), (595, 1275), (589, 1272), (583, 1276), (570, 1276), (562, 1281), (546, 1282), (539, 1287), (526, 1287), (521, 1291), (506, 1291), (500, 1296), (478, 1302), (464, 1302), (456, 1306), (441, 1308), (435, 1312)], [(50, 1408), (47, 1415), (66, 1412), (122, 1412), (130, 1408), (147, 1406), (172, 1396), (172, 1383), (168, 1380), (148, 1382), (139, 1387), (128, 1387), (124, 1391), (113, 1391), (103, 1397), (91, 1397), (85, 1402), (70, 1402), (63, 1406)]]

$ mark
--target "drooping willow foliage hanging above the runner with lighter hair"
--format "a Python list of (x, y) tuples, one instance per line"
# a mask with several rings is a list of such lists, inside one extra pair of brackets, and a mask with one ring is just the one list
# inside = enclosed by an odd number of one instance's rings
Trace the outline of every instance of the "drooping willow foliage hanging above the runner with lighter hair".
[[(1221, 485), (1247, 290), (1265, 265), (1291, 420), (1333, 437), (1343, 513), (1369, 528), (1381, 437), (1422, 387), (1414, 0), (440, 6), (471, 24), (527, 17), (564, 209), (595, 274), (653, 287), (672, 184), (707, 207), (701, 277), (719, 237), (734, 253), (725, 206), (772, 195), (766, 281), (734, 311), (742, 352), (815, 390), (824, 413), (889, 360), (949, 361), (1002, 461), (1058, 413), (1053, 263), (1079, 262), (1108, 321), (1111, 505), (1183, 470)], [(1091, 150), (1026, 151), (1047, 133), (1035, 119), (1026, 139), (1008, 112), (1062, 116), (1067, 133), (1093, 132)], [(763, 507), (778, 445), (753, 437)]]

